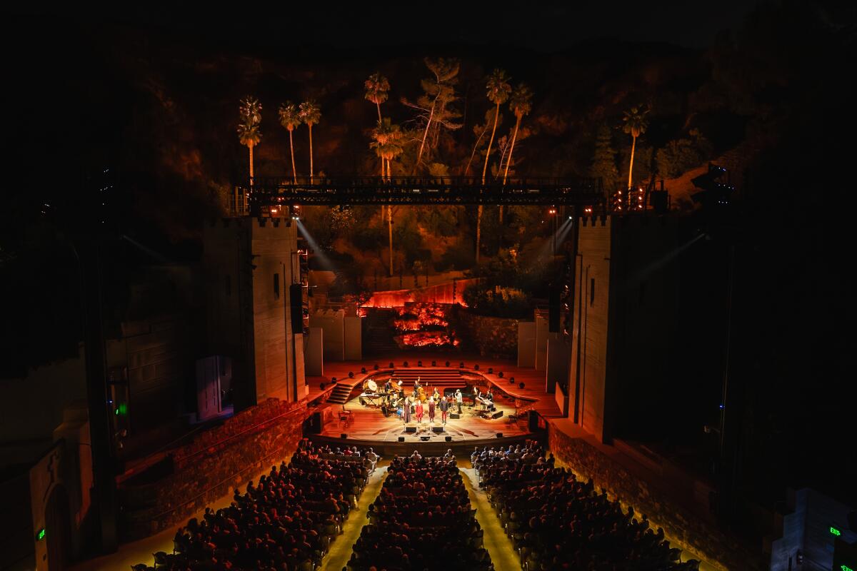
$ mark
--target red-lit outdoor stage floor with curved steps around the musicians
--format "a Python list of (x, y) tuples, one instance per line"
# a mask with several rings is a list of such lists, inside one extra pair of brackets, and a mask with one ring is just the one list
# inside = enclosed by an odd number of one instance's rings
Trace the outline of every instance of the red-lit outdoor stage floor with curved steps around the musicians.
[[(313, 441), (340, 447), (372, 446), (381, 455), (410, 454), (414, 449), (428, 455), (443, 454), (446, 449), (470, 454), (474, 446), (507, 446), (541, 437), (542, 431), (530, 431), (530, 411), (545, 418), (560, 415), (554, 394), (545, 390), (544, 371), (518, 367), (511, 361), (464, 358), (458, 354), (400, 355), (385, 361), (383, 366), (377, 361), (326, 364), (327, 375), (311, 379), (309, 399), (315, 402), (315, 412), (321, 418), (321, 431), (316, 427), (316, 433), (310, 435)], [(433, 361), (439, 366), (430, 366)], [(446, 366), (446, 362), (450, 365)], [(366, 372), (362, 372), (364, 369)], [(385, 416), (380, 399), (373, 402), (361, 397), (369, 380), (380, 388), (387, 378), (393, 378), (393, 384), (401, 379), (410, 396), (417, 377), (420, 384), (428, 385), (429, 394), (435, 386), (447, 395), (460, 389), (464, 405), (458, 418), (450, 415), (444, 425), (438, 408), (431, 422), (426, 407), (422, 423), (411, 415), (411, 422), (405, 424), (395, 413)], [(333, 378), (337, 379), (335, 384), (331, 383)], [(321, 383), (325, 383), (324, 389)], [(473, 406), (470, 395), (474, 385), (482, 392), (491, 388), (493, 413), (486, 413), (480, 405)], [(457, 410), (453, 406), (450, 412)]]

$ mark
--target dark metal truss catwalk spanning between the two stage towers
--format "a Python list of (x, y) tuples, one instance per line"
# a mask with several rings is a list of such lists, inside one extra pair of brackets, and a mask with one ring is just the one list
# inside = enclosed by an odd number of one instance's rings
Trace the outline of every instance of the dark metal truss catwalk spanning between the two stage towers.
[(600, 178), (516, 178), (503, 184), (472, 176), (256, 177), (235, 185), (237, 213), (264, 215), (292, 205), (606, 204)]

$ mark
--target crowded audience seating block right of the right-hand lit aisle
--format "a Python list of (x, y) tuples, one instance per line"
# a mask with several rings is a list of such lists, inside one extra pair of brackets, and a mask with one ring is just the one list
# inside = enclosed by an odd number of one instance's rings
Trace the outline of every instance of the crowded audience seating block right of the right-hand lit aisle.
[(554, 467), (553, 455), (545, 459), (535, 442), (476, 449), (470, 459), (526, 571), (698, 569), (698, 561), (680, 562), (680, 550), (670, 549), (645, 515), (635, 517), (591, 480)]

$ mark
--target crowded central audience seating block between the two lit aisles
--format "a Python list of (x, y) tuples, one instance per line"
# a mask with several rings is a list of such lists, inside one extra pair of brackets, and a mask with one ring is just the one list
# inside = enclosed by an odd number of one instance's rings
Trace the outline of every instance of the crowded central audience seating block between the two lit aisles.
[(451, 452), (394, 458), (348, 569), (493, 569), (475, 514)]

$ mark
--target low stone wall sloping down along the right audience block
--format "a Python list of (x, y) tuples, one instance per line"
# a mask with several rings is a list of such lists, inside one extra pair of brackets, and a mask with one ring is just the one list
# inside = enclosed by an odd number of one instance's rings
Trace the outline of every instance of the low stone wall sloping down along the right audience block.
[(619, 462), (583, 438), (570, 437), (553, 423), (548, 428), (548, 449), (560, 465), (579, 477), (593, 479), (596, 489), (608, 491), (611, 499), (631, 505), (646, 514), (652, 526), (660, 526), (674, 547), (703, 557), (717, 569), (752, 568), (750, 558), (708, 521), (677, 505), (650, 482), (639, 479)]

